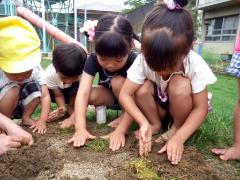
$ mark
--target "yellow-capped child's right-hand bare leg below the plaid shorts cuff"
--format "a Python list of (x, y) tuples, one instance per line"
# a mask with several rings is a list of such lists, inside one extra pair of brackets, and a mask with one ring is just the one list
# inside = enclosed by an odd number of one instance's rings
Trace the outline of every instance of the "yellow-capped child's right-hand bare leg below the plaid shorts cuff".
[(26, 106), (24, 106), (23, 115), (22, 115), (22, 125), (32, 126), (35, 121), (32, 119), (32, 114), (40, 103), (40, 99), (35, 98)]

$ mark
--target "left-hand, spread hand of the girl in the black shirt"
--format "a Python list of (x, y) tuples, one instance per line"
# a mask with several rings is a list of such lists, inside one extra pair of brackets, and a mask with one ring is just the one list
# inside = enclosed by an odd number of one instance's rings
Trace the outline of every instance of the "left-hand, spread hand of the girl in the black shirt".
[(88, 139), (95, 139), (96, 137), (90, 134), (86, 129), (76, 131), (73, 137), (68, 140), (68, 143), (73, 143), (74, 147), (84, 146)]

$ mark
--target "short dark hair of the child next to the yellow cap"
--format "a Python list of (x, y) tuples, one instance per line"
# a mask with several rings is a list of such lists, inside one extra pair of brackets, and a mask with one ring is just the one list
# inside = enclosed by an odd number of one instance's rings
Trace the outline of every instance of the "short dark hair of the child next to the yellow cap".
[(53, 51), (53, 66), (56, 72), (74, 77), (82, 74), (87, 54), (75, 43), (61, 44)]

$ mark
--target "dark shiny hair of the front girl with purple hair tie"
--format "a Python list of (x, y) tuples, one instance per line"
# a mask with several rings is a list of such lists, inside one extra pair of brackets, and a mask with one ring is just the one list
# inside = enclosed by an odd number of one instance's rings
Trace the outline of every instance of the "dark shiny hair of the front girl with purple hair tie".
[[(183, 7), (187, 0), (175, 0)], [(191, 14), (181, 8), (169, 9), (158, 4), (147, 15), (142, 29), (142, 52), (149, 67), (154, 71), (173, 68), (186, 56), (194, 41)]]

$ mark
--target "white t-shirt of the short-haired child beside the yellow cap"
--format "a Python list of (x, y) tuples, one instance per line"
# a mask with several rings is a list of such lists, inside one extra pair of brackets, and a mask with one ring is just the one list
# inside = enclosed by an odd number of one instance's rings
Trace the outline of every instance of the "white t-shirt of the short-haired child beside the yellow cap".
[(49, 89), (58, 89), (58, 88), (65, 89), (72, 85), (72, 84), (65, 84), (60, 80), (53, 64), (50, 64), (47, 67), (47, 69), (45, 70), (45, 73), (46, 73), (47, 87)]

